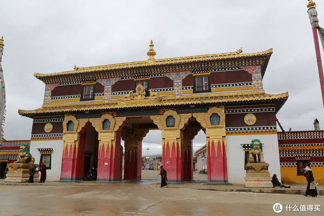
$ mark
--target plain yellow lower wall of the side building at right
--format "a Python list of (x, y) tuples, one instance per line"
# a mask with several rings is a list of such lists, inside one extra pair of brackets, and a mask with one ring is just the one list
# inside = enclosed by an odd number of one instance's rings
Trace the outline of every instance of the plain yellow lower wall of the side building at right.
[[(316, 182), (324, 184), (324, 167), (311, 167)], [(305, 176), (297, 176), (297, 167), (280, 167), (281, 182), (283, 184), (307, 184)]]

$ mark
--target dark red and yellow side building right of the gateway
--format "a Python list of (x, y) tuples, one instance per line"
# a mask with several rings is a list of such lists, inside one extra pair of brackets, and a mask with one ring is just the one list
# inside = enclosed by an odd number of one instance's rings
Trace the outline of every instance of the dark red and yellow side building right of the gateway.
[(314, 127), (314, 131), (278, 132), (283, 183), (307, 183), (303, 168), (309, 166), (316, 182), (324, 184), (324, 131), (319, 130), (317, 119)]

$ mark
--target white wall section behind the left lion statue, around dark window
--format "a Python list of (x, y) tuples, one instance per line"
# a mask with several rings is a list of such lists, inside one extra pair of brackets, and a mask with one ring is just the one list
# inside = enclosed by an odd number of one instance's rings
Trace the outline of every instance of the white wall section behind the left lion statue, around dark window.
[(61, 176), (63, 140), (30, 141), (30, 153), (39, 164), (41, 153), (37, 149), (52, 148), (51, 169), (46, 170), (46, 180), (58, 181)]

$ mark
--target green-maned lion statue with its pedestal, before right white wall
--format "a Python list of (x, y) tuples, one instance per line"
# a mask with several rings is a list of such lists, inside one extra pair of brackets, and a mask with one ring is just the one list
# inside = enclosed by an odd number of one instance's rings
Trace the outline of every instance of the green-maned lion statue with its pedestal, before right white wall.
[[(260, 140), (252, 140), (249, 151), (249, 162), (245, 165), (246, 188), (272, 188), (272, 177), (268, 171), (269, 164), (263, 160), (262, 143)], [(257, 163), (257, 156), (260, 163)]]

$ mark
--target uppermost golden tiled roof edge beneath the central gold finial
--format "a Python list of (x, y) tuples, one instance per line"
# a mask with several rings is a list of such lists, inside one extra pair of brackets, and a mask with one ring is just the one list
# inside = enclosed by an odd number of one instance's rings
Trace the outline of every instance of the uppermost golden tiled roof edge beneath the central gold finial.
[(123, 69), (123, 68), (163, 65), (163, 64), (171, 64), (171, 63), (195, 62), (199, 60), (216, 60), (216, 59), (226, 59), (226, 58), (251, 57), (257, 55), (269, 54), (272, 53), (273, 50), (271, 48), (263, 52), (245, 53), (245, 54), (241, 54), (240, 51), (241, 50), (238, 50), (236, 52), (219, 53), (219, 54), (197, 55), (197, 56), (177, 57), (177, 58), (168, 58), (168, 59), (155, 59), (154, 62), (148, 62), (148, 60), (146, 60), (146, 61), (138, 61), (138, 62), (127, 62), (127, 63), (92, 66), (92, 67), (77, 67), (77, 69), (73, 71), (65, 71), (65, 72), (51, 73), (51, 74), (34, 73), (34, 76), (46, 77), (46, 76), (66, 75), (66, 74), (79, 74), (79, 73), (94, 72), (94, 71), (107, 71), (107, 70)]

